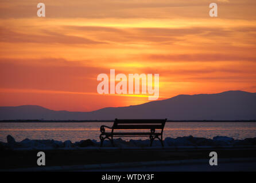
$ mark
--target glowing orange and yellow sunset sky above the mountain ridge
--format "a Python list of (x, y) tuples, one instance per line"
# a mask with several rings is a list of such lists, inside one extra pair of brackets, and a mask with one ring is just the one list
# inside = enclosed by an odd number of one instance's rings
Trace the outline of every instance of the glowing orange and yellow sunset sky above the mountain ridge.
[[(0, 106), (87, 112), (147, 96), (97, 93), (100, 73), (159, 74), (158, 100), (256, 92), (256, 1), (0, 0)], [(218, 17), (209, 5), (218, 5)]]

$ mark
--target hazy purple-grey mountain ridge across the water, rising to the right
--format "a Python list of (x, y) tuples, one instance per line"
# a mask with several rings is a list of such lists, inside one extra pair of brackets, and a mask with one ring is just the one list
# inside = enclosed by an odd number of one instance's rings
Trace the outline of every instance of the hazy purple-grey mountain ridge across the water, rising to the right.
[(0, 107), (0, 120), (113, 120), (114, 118), (168, 118), (168, 120), (255, 120), (256, 93), (228, 91), (179, 95), (141, 105), (68, 112), (24, 105)]

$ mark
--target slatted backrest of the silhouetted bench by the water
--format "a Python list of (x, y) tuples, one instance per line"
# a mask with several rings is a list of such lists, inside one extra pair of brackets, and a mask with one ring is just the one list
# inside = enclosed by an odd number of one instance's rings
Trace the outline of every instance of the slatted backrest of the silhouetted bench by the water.
[(114, 129), (161, 129), (164, 130), (164, 125), (167, 119), (159, 120), (120, 120), (115, 119), (113, 124)]

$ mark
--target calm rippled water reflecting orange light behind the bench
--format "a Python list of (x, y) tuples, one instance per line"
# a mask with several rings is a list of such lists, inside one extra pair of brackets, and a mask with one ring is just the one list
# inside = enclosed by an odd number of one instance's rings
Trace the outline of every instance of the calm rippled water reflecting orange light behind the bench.
[[(54, 139), (72, 142), (88, 138), (99, 141), (100, 125), (111, 126), (112, 122), (36, 122), (0, 123), (0, 141), (6, 142), (10, 134), (16, 141), (30, 139)], [(228, 136), (235, 139), (256, 137), (256, 123), (253, 122), (167, 122), (165, 137), (207, 137)], [(123, 138), (129, 140), (130, 137)], [(133, 138), (133, 137), (131, 137)], [(146, 137), (144, 137), (145, 139)], [(133, 138), (135, 139), (135, 138)], [(142, 139), (142, 138), (139, 138)]]

